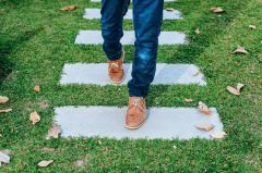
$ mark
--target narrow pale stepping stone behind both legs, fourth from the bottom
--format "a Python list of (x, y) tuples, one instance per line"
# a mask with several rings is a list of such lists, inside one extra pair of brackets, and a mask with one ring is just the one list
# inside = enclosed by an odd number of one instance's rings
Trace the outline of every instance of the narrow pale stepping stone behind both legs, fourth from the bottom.
[[(83, 16), (87, 20), (100, 18), (100, 9), (85, 9), (85, 14)], [(123, 17), (124, 20), (132, 20), (133, 13), (132, 9), (129, 9)], [(172, 12), (163, 10), (163, 20), (181, 20), (181, 13), (178, 10)]]

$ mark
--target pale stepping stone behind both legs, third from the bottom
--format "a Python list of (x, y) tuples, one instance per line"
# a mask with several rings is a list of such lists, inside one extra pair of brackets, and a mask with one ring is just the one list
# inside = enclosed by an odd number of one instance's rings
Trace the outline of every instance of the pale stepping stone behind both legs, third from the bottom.
[[(162, 32), (158, 38), (159, 45), (186, 44), (186, 35), (180, 32)], [(134, 30), (124, 30), (120, 40), (122, 45), (134, 45)], [(98, 45), (103, 44), (100, 30), (81, 30), (75, 38), (74, 44)]]

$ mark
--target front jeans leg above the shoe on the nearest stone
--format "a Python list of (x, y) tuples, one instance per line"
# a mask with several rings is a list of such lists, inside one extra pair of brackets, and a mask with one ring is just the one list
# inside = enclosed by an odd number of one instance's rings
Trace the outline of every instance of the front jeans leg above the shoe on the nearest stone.
[(132, 79), (128, 87), (130, 97), (145, 98), (155, 76), (164, 0), (133, 0), (132, 3), (136, 40)]

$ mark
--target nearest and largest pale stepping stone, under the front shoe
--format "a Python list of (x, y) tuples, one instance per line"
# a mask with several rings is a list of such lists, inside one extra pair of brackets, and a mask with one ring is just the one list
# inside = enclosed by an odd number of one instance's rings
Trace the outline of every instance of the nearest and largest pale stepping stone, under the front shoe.
[[(223, 131), (223, 124), (215, 108), (210, 108), (212, 115), (195, 108), (150, 108), (147, 119), (139, 129), (124, 126), (127, 107), (60, 107), (55, 108), (55, 121), (61, 127), (62, 137), (99, 136), (129, 138), (179, 139), (211, 138), (210, 134)], [(212, 124), (215, 127), (205, 132), (194, 125)]]

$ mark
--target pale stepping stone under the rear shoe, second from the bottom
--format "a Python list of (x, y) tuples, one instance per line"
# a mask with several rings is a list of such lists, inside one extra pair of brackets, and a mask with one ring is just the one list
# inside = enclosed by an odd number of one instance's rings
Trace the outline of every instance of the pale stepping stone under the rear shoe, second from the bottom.
[[(126, 85), (131, 79), (132, 64), (124, 63), (124, 81), (120, 85)], [(193, 64), (166, 64), (157, 63), (153, 85), (164, 84), (199, 84), (206, 85), (203, 81), (204, 75), (193, 74), (199, 69)], [(75, 63), (64, 64), (63, 74), (60, 84), (96, 84), (96, 85), (116, 85), (108, 78), (108, 63)]]

